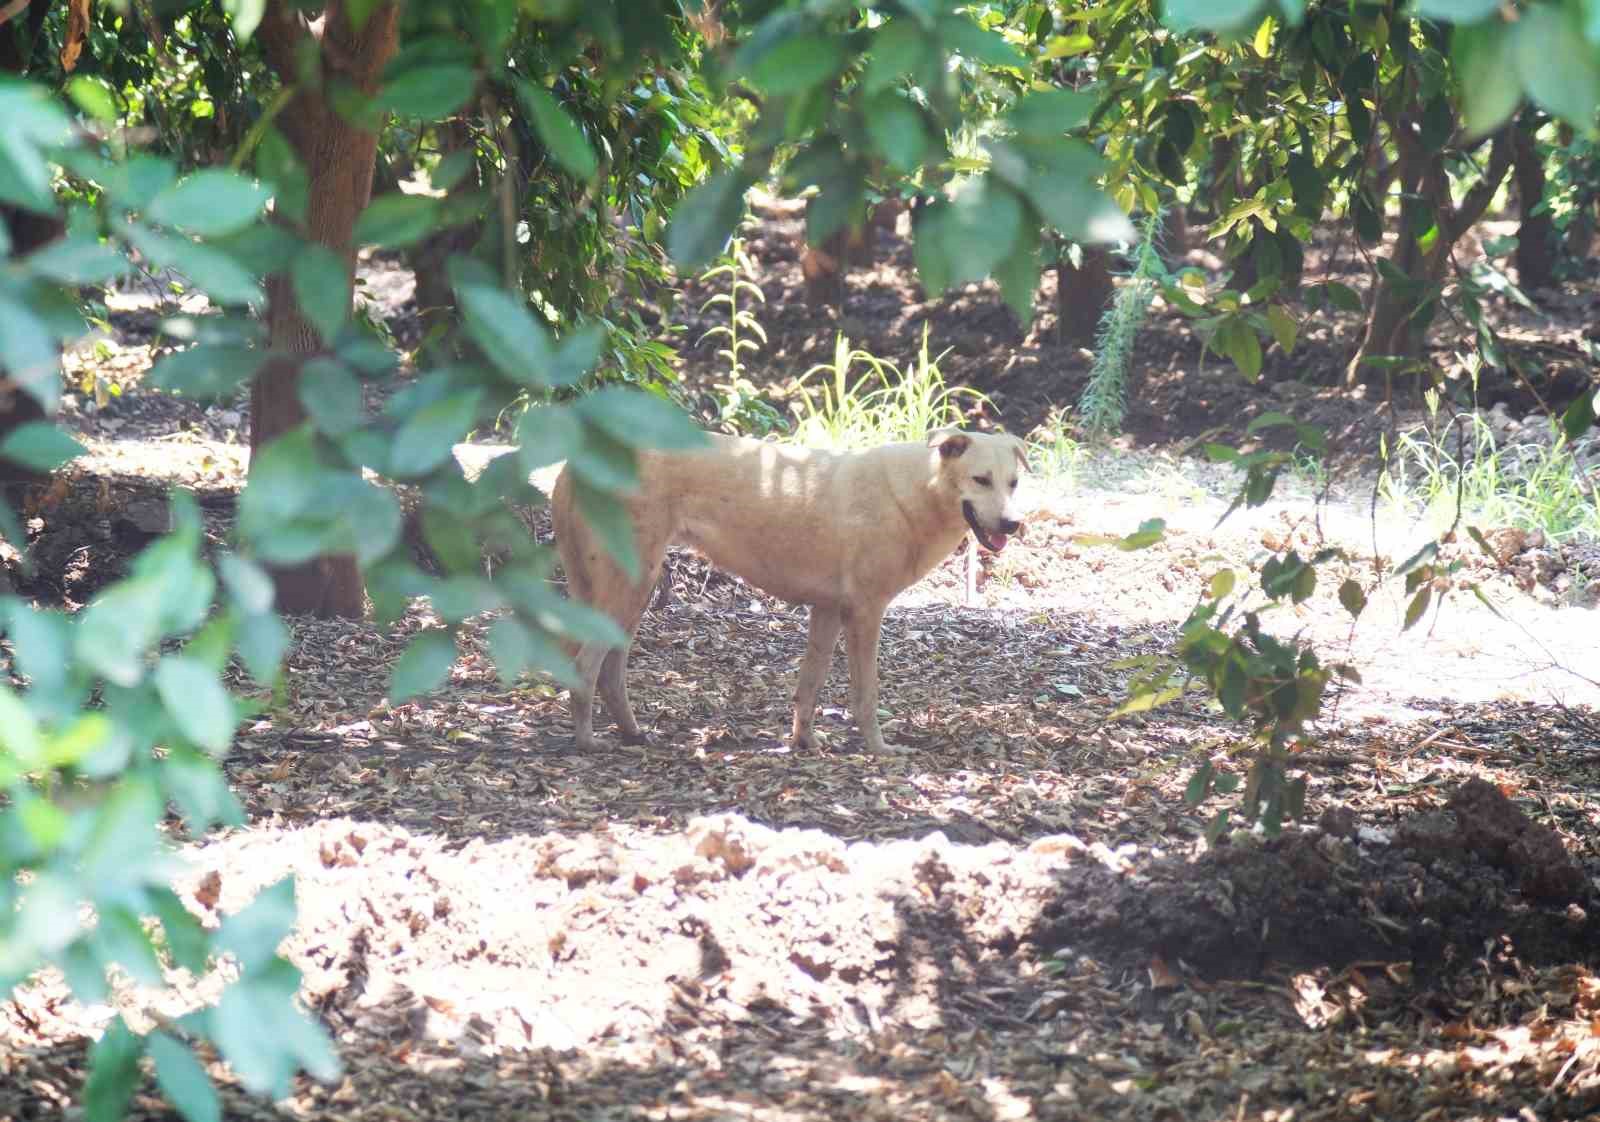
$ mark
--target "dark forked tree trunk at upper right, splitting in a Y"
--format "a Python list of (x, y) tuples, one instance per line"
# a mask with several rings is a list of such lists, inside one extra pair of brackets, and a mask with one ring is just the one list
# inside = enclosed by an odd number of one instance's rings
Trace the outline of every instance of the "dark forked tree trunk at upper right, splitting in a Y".
[[(1395, 179), (1403, 202), (1400, 230), (1389, 254), (1392, 269), (1379, 274), (1362, 343), (1344, 371), (1346, 386), (1389, 384), (1392, 367), (1371, 360), (1422, 355), (1429, 319), (1426, 312), (1429, 304), (1438, 299), (1440, 285), (1450, 267), (1450, 251), (1483, 216), (1510, 170), (1514, 125), (1494, 134), (1483, 178), (1459, 205), (1453, 206), (1445, 154), (1424, 150), (1416, 141), (1419, 122), (1414, 117), (1419, 114), (1421, 109), (1413, 107), (1402, 120), (1390, 120), (1390, 133), (1400, 150), (1400, 158), (1395, 162)], [(1422, 238), (1435, 226), (1437, 235), (1424, 246)]]

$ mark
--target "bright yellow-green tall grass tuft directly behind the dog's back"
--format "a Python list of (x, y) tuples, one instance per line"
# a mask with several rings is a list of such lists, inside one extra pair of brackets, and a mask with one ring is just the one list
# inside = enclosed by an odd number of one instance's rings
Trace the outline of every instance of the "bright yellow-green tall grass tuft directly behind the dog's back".
[(790, 439), (845, 451), (922, 440), (934, 429), (960, 424), (963, 407), (989, 399), (970, 386), (944, 381), (939, 359), (946, 354), (928, 357), (926, 325), (917, 360), (906, 367), (851, 347), (840, 335), (834, 360), (811, 367), (800, 379)]

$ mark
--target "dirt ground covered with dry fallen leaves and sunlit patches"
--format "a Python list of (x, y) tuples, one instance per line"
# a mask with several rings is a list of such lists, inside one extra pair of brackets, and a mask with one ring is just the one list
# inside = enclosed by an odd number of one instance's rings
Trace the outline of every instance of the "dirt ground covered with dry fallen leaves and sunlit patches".
[[(768, 354), (792, 368), (838, 320), (802, 299), (786, 237), (770, 218), (757, 248)], [(406, 277), (370, 280), (403, 317)], [(1082, 363), (1051, 352), (1048, 319), (1019, 338), (989, 293), (918, 304), (904, 262), (850, 285), (845, 319), (875, 349), (920, 319), (965, 338), (947, 373), (995, 392), (1014, 429), (1075, 395), (1059, 384)], [(115, 322), (80, 362), (131, 387), (147, 320)], [(1347, 330), (1328, 327), (1330, 355)], [(1218, 525), (1224, 480), (1173, 453), (1238, 432), (1256, 392), (1195, 376), (1181, 325), (1142, 346), (1187, 355), (1147, 363), (1139, 415), (1166, 419), (1035, 480), (1026, 536), (978, 562), (971, 595), (958, 555), (890, 611), (890, 755), (861, 751), (842, 664), (824, 747), (787, 749), (803, 611), (691, 555), (632, 659), (653, 736), (638, 749), (576, 755), (565, 696), (501, 687), (480, 643), (446, 690), (389, 706), (422, 607), (394, 632), (298, 621), (285, 703), (227, 760), (248, 824), (182, 839), (181, 890), (211, 922), (296, 876), (285, 949), (346, 1074), (278, 1104), (229, 1090), (229, 1117), (1594, 1117), (1600, 565), (1515, 536), (1496, 538), (1499, 563), (1458, 543), (1442, 607), (1402, 631), (1376, 575), (1422, 528), (1373, 522), (1357, 482), (1322, 507), (1290, 487)], [(1296, 400), (1368, 437), (1370, 403), (1306, 386)], [(93, 597), (160, 530), (144, 504), (170, 485), (226, 535), (237, 410), (70, 400), (91, 456), (37, 504), (26, 594)], [(1170, 528), (1150, 549), (1083, 541), (1149, 517)], [(1182, 791), (1206, 760), (1243, 770), (1240, 730), (1200, 695), (1109, 714), (1214, 571), (1325, 541), (1352, 555), (1330, 592), (1269, 616), (1363, 675), (1298, 760), (1310, 821), (1208, 848), (1214, 805)], [(1331, 595), (1344, 575), (1371, 595), (1354, 629)], [(174, 976), (118, 1007), (138, 1023), (213, 984)], [(114, 1013), (51, 976), (0, 1005), (0, 1119), (75, 1111), (85, 1040)], [(136, 1114), (168, 1117), (146, 1092)]]

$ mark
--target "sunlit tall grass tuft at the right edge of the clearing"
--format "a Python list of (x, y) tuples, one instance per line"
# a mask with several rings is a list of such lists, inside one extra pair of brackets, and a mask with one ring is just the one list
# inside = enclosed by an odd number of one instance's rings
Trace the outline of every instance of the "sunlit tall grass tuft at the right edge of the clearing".
[(1443, 437), (1402, 434), (1379, 495), (1440, 527), (1454, 520), (1459, 496), (1462, 517), (1474, 522), (1539, 530), (1552, 541), (1600, 538), (1600, 511), (1579, 471), (1563, 435), (1549, 445), (1498, 445), (1482, 416), (1462, 415)]

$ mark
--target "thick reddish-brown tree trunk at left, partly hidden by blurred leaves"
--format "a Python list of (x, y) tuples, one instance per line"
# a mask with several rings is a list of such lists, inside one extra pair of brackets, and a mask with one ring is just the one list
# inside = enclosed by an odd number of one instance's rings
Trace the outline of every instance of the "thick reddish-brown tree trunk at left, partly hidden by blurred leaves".
[[(307, 22), (286, 0), (267, 5), (261, 43), (283, 82), (296, 80), (296, 53), (309, 37), (320, 40), (322, 82), (317, 88), (301, 85), (296, 90), (278, 117), (278, 128), (310, 179), (302, 234), (339, 253), (354, 277), (355, 219), (373, 194), (378, 133), (341, 117), (323, 91), (341, 83), (363, 93), (378, 88), (398, 46), (398, 10), (384, 3), (354, 30), (342, 0), (328, 0), (317, 22)], [(298, 391), (301, 368), (323, 344), (299, 314), (285, 274), (267, 278), (267, 338), (272, 357), (250, 387), (251, 453), (306, 419)], [(272, 578), (280, 611), (360, 618), (366, 608), (362, 571), (349, 554), (274, 570)]]

